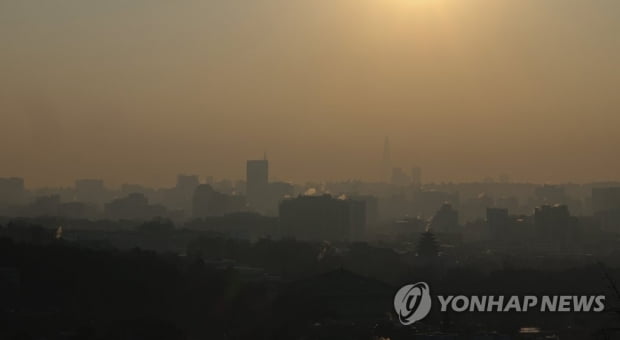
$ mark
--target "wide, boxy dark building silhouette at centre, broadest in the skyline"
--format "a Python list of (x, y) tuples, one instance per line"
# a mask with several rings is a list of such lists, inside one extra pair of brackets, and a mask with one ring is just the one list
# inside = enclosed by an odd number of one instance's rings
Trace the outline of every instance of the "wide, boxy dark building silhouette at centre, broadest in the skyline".
[(299, 196), (280, 203), (283, 236), (301, 240), (354, 240), (363, 235), (365, 221), (363, 201), (323, 195)]

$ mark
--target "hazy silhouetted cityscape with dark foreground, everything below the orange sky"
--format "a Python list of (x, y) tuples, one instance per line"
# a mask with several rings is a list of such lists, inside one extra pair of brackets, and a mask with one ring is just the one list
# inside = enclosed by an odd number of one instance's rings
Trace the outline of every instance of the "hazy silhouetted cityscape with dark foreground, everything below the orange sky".
[[(0, 179), (2, 337), (582, 339), (618, 333), (620, 183), (424, 183), (179, 175), (172, 188)], [(396, 289), (604, 294), (604, 313), (431, 312)], [(50, 337), (50, 334), (52, 335)], [(555, 337), (555, 338), (554, 338)]]

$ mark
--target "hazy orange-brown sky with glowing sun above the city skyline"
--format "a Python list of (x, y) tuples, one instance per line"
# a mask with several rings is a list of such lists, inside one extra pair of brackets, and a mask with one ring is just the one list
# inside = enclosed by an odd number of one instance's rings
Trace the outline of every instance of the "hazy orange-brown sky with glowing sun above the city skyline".
[(0, 176), (620, 179), (617, 0), (2, 0)]

